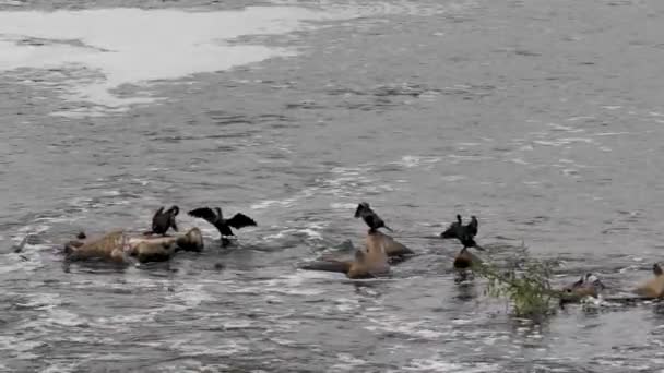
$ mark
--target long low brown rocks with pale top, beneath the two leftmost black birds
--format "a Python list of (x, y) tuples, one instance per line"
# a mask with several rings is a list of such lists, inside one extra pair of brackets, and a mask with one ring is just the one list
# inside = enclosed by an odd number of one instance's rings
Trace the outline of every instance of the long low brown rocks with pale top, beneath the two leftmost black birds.
[(141, 263), (167, 261), (175, 252), (203, 250), (203, 236), (198, 228), (178, 237), (130, 237), (116, 230), (97, 239), (70, 241), (64, 245), (71, 261), (102, 258), (116, 263), (128, 263), (134, 256)]

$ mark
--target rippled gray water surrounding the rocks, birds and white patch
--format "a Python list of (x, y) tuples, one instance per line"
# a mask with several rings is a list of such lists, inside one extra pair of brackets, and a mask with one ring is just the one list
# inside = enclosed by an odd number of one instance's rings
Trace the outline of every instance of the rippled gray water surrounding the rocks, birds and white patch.
[[(7, 1), (0, 13), (247, 4)], [(491, 256), (524, 242), (559, 258), (556, 284), (594, 272), (620, 292), (651, 276), (664, 248), (663, 3), (251, 4), (334, 16), (226, 40), (292, 53), (111, 89), (159, 98), (137, 105), (67, 96), (104, 80), (94, 68), (40, 67), (37, 55), (2, 71), (0, 371), (664, 370), (656, 304), (571, 306), (532, 324), (481, 279), (455, 284), (459, 244), (430, 238), (474, 214)], [(81, 44), (58, 38), (22, 43)], [(155, 50), (178, 40), (163, 43)], [(297, 269), (359, 246), (359, 201), (418, 255), (381, 280)], [(145, 229), (171, 204), (242, 212), (258, 227), (222, 250), (213, 227), (181, 214), (181, 229), (203, 229), (203, 253), (64, 265), (58, 245), (79, 230)]]

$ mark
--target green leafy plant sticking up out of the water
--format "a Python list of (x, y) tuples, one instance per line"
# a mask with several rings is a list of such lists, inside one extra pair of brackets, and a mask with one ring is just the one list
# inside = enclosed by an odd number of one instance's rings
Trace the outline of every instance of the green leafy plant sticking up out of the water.
[(560, 292), (552, 289), (553, 261), (530, 257), (522, 246), (505, 268), (490, 263), (473, 266), (473, 272), (486, 278), (486, 292), (496, 298), (507, 298), (515, 316), (537, 318), (555, 313)]

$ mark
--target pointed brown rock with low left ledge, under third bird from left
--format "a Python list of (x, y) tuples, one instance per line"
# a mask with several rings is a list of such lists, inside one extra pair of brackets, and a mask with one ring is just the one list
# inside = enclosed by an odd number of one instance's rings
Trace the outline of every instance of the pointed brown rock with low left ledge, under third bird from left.
[(303, 269), (344, 273), (348, 278), (374, 278), (390, 273), (387, 250), (394, 240), (381, 232), (365, 238), (365, 250), (357, 250), (353, 261), (317, 261), (301, 266)]

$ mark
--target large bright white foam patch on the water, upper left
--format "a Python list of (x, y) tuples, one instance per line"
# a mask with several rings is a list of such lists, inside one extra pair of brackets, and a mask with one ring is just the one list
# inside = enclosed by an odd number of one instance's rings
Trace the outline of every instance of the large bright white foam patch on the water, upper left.
[[(308, 21), (324, 19), (323, 12), (297, 7), (217, 12), (134, 8), (5, 11), (0, 12), (0, 71), (76, 69), (85, 76), (59, 82), (69, 88), (63, 98), (93, 103), (97, 112), (100, 108), (117, 111), (156, 100), (114, 95), (112, 89), (122, 84), (142, 85), (294, 56), (295, 50), (227, 45), (226, 40), (286, 34), (310, 27)], [(22, 43), (31, 39), (37, 43)], [(78, 108), (69, 115), (87, 112)]]

